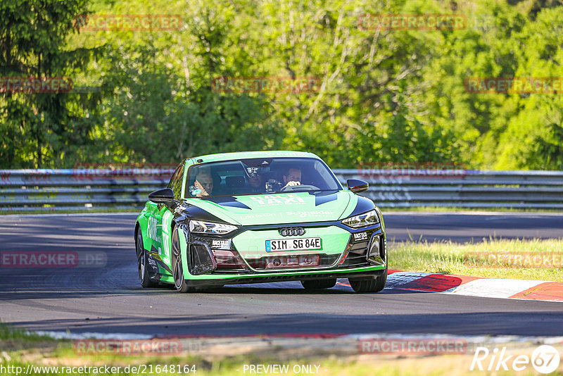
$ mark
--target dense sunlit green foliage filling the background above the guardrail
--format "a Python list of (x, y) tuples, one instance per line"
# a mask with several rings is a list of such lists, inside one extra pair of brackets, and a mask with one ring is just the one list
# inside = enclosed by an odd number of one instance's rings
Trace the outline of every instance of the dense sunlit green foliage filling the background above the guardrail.
[[(89, 30), (80, 15), (177, 15), (177, 30)], [(460, 30), (374, 30), (366, 14), (456, 13)], [(557, 1), (3, 0), (0, 168), (171, 163), (221, 151), (563, 169), (561, 93), (472, 93), (468, 77), (563, 77)], [(313, 77), (312, 92), (222, 92), (217, 77)], [(95, 88), (92, 90), (92, 88)]]

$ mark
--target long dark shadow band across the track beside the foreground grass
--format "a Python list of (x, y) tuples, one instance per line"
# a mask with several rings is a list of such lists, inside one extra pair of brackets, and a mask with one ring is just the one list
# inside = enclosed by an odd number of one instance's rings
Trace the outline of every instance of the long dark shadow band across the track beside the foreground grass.
[[(538, 322), (541, 322), (538, 325)], [(46, 319), (34, 322), (17, 321), (14, 325), (30, 330), (53, 330), (71, 333), (142, 333), (167, 335), (248, 335), (248, 334), (459, 334), (479, 335), (563, 335), (560, 311), (527, 313), (520, 318), (505, 312), (434, 313), (416, 315), (327, 315), (324, 313), (291, 313), (279, 315), (209, 314), (163, 318), (91, 318), (77, 320)]]

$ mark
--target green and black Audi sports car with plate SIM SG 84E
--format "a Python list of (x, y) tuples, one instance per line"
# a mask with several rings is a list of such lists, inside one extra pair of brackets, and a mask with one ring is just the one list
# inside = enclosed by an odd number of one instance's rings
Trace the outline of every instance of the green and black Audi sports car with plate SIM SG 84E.
[(188, 158), (151, 193), (135, 225), (143, 287), (179, 292), (299, 280), (305, 289), (348, 278), (355, 292), (387, 280), (381, 211), (343, 189), (315, 154), (253, 151)]

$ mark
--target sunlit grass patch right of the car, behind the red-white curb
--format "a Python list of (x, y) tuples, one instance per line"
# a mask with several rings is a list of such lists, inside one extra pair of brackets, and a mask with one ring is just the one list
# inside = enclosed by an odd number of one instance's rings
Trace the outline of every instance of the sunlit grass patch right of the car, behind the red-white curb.
[[(388, 252), (389, 268), (395, 270), (563, 282), (563, 239), (391, 243)], [(514, 256), (523, 253), (545, 256), (546, 260), (555, 257), (555, 262), (546, 262), (542, 267), (515, 262)]]

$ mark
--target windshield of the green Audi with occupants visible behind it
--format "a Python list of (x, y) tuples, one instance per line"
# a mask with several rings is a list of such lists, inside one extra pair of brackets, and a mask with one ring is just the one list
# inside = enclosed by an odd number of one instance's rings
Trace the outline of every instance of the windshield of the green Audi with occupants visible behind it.
[(274, 192), (323, 192), (342, 189), (316, 158), (247, 158), (202, 163), (189, 169), (185, 197)]

